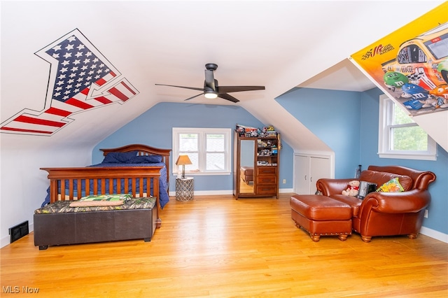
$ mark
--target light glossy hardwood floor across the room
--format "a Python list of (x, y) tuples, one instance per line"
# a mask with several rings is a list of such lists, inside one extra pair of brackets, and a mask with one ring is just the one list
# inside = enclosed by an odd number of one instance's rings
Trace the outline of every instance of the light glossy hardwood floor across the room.
[(0, 250), (0, 296), (448, 297), (447, 243), (358, 234), (315, 243), (290, 219), (289, 197), (172, 198), (148, 243), (38, 250), (31, 233)]

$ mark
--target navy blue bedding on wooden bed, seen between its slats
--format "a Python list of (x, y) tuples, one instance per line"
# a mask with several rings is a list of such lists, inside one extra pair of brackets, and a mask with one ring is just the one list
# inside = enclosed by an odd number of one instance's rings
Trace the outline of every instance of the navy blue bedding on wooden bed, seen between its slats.
[[(128, 160), (131, 161), (132, 160)], [(146, 162), (148, 160), (145, 160)], [(157, 161), (157, 160), (149, 160), (151, 161)], [(102, 167), (107, 167), (107, 166), (163, 166), (162, 169), (160, 169), (160, 178), (159, 178), (159, 201), (160, 201), (160, 207), (163, 208), (169, 201), (169, 196), (168, 196), (168, 182), (167, 182), (167, 166), (165, 165), (165, 163), (163, 162), (151, 162), (151, 163), (119, 163), (119, 162), (111, 162), (109, 163), (107, 159), (105, 159), (101, 164), (92, 164), (91, 166), (102, 166)], [(151, 180), (151, 190), (153, 189), (153, 185), (152, 185), (152, 180)], [(75, 190), (75, 194), (76, 194), (76, 189), (77, 189), (77, 185), (76, 185), (76, 180), (73, 181), (73, 189)], [(125, 181), (124, 179), (121, 179), (121, 185), (125, 185)], [(60, 185), (58, 185), (58, 188), (60, 187)], [(85, 180), (82, 180), (81, 182), (81, 189), (82, 189), (82, 194), (81, 197), (85, 197)], [(98, 180), (98, 189), (101, 189), (101, 179)], [(106, 189), (109, 189), (109, 179), (106, 180)], [(90, 190), (93, 190), (93, 181), (90, 180)], [(116, 179), (113, 180), (113, 190), (114, 192), (116, 192)], [(144, 179), (144, 190), (146, 190), (146, 179)], [(59, 188), (60, 191), (60, 188)], [(137, 192), (139, 192), (139, 183), (137, 183)], [(50, 187), (48, 187), (47, 190), (47, 196), (45, 197), (45, 201), (43, 201), (42, 203), (42, 207), (50, 204)]]

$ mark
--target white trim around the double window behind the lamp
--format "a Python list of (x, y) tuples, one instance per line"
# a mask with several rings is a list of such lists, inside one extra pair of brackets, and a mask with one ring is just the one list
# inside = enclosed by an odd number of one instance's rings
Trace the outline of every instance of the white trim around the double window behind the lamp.
[(209, 175), (230, 175), (232, 169), (232, 129), (230, 128), (202, 128), (202, 127), (173, 127), (172, 141), (173, 141), (173, 164), (172, 171), (176, 175), (181, 171), (180, 166), (176, 166), (177, 157), (179, 157), (179, 134), (199, 134), (199, 158), (200, 163), (205, 164), (205, 155), (202, 152), (206, 150), (205, 136), (206, 134), (224, 134), (225, 135), (225, 169), (227, 171), (204, 171), (200, 169), (199, 172), (186, 171), (189, 176), (209, 176)]

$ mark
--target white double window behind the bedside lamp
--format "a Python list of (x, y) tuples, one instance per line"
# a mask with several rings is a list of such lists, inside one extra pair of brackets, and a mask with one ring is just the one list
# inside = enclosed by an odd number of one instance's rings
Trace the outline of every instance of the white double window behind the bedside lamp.
[[(180, 154), (190, 157), (186, 173), (230, 175), (232, 129), (173, 127), (173, 161)], [(177, 173), (178, 166), (173, 166)]]

